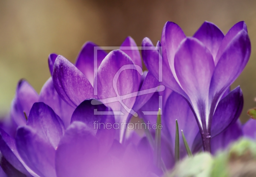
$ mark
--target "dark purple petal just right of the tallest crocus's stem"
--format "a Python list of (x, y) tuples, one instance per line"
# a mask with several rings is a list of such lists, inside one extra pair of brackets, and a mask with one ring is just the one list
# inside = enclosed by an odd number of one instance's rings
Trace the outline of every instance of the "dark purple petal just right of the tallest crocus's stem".
[(243, 105), (243, 93), (238, 86), (220, 100), (212, 118), (211, 136), (220, 134), (230, 124), (234, 124), (243, 110)]

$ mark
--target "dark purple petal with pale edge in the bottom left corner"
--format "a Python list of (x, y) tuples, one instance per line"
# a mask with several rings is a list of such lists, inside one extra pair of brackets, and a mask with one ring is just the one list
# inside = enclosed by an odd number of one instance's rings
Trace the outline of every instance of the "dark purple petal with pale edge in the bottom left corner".
[(31, 176), (28, 170), (30, 172), (32, 171), (28, 168), (27, 165), (24, 164), (23, 160), (20, 158), (20, 155), (16, 149), (15, 140), (2, 129), (0, 129), (0, 151), (4, 158), (15, 169), (19, 170), (21, 173), (26, 174), (27, 176)]

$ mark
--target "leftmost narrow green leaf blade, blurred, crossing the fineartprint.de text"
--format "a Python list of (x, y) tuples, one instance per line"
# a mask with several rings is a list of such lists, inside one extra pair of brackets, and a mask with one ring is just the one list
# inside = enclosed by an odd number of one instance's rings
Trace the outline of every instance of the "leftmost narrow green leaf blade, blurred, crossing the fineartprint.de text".
[(161, 109), (159, 108), (157, 113), (157, 120), (156, 120), (156, 134), (155, 134), (155, 158), (156, 158), (156, 165), (158, 167), (161, 166), (161, 129), (159, 128), (161, 125)]

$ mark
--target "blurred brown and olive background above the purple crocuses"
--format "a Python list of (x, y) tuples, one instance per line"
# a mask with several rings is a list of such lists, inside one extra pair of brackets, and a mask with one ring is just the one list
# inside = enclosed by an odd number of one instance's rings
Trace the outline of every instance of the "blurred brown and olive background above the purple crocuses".
[(156, 44), (166, 21), (192, 36), (205, 20), (224, 34), (238, 21), (247, 24), (252, 54), (232, 85), (244, 93), (244, 122), (247, 110), (256, 107), (255, 0), (0, 0), (0, 115), (8, 112), (20, 78), (40, 92), (50, 77), (52, 52), (74, 63), (86, 41), (118, 46), (130, 35), (139, 46), (144, 37)]

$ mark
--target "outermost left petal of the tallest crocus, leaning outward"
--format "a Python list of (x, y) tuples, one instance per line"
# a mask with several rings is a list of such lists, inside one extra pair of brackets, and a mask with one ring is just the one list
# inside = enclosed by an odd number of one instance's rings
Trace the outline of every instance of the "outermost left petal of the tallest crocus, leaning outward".
[[(161, 51), (157, 49), (154, 47), (150, 39), (148, 38), (143, 39), (141, 54), (142, 54), (143, 61), (146, 67), (148, 68), (148, 71), (150, 71), (158, 81), (161, 81), (159, 79), (162, 78), (163, 84), (168, 88), (186, 96), (186, 93), (180, 88), (180, 85), (175, 80), (171, 72), (168, 61), (162, 59)], [(162, 66), (162, 69), (161, 67), (159, 68), (159, 61), (160, 61), (160, 66)], [(161, 61), (162, 61), (162, 65), (161, 65)], [(160, 71), (162, 71), (162, 77), (161, 77), (161, 74), (159, 77), (159, 69)]]

